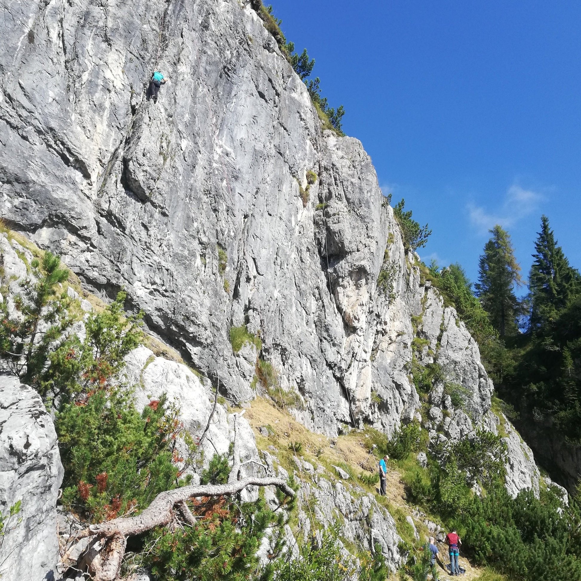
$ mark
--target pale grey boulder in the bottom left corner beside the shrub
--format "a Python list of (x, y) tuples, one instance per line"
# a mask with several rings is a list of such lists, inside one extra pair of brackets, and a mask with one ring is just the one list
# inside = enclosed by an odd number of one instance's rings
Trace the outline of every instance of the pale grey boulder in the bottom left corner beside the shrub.
[(55, 427), (40, 396), (16, 378), (0, 375), (0, 512), (6, 516), (21, 501), (20, 513), (5, 530), (2, 579), (54, 578), (59, 558), (56, 499), (62, 480)]

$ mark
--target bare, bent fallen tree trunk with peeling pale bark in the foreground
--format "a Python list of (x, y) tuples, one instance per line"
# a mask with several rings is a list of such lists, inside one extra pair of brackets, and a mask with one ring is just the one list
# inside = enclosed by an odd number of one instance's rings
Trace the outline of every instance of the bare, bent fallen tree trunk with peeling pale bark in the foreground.
[[(94, 581), (115, 581), (119, 579), (127, 537), (141, 535), (158, 526), (168, 525), (178, 515), (181, 516), (185, 524), (190, 526), (195, 524), (195, 515), (192, 514), (185, 502), (189, 498), (233, 496), (242, 492), (247, 486), (277, 486), (287, 496), (295, 496), (295, 491), (282, 478), (257, 478), (251, 476), (238, 480), (241, 462), (239, 446), (238, 442), (236, 442), (237, 421), (238, 414), (236, 414), (234, 420), (234, 466), (227, 484), (191, 485), (174, 490), (166, 490), (166, 492), (158, 494), (141, 514), (135, 517), (119, 517), (98, 525), (90, 525), (72, 537), (73, 546), (81, 539), (91, 537), (87, 550), (83, 554), (83, 565), (88, 569)], [(64, 555), (63, 561), (66, 561), (67, 555), (73, 546)]]

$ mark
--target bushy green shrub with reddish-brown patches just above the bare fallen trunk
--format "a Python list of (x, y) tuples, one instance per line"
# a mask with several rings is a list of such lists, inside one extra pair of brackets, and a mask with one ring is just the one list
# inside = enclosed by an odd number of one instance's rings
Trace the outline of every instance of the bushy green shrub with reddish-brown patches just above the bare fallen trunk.
[(99, 389), (81, 405), (64, 405), (55, 428), (64, 466), (62, 503), (91, 522), (141, 511), (175, 487), (177, 463), (191, 463), (191, 457), (180, 457), (177, 436), (186, 438), (192, 457), (194, 452), (178, 410), (165, 397), (139, 414), (124, 387)]

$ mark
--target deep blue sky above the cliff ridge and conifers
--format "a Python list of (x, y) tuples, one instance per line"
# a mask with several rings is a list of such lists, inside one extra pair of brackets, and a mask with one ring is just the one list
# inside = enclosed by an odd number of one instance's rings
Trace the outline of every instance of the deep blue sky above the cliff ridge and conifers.
[(474, 281), (500, 223), (526, 276), (546, 213), (581, 267), (579, 0), (272, 1), (384, 192), (432, 228), (422, 259)]

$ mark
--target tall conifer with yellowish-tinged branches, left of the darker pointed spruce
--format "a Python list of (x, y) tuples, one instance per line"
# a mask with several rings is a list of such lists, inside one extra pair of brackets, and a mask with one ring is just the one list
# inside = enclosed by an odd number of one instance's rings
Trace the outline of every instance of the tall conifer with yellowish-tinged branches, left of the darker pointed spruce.
[(521, 285), (521, 267), (514, 257), (510, 235), (498, 224), (480, 256), (476, 294), (501, 337), (517, 332), (519, 300), (515, 285)]

